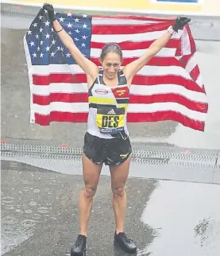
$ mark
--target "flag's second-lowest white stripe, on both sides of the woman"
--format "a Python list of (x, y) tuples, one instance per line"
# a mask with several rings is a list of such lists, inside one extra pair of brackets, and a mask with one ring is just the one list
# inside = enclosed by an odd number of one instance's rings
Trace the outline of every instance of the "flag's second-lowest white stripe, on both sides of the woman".
[[(34, 95), (47, 96), (51, 93), (87, 93), (87, 83), (50, 83), (48, 86), (33, 85)], [(199, 103), (206, 103), (206, 95), (203, 92), (187, 90), (178, 84), (160, 84), (160, 85), (133, 85), (130, 88), (131, 95), (157, 95), (170, 94), (183, 95), (187, 99)]]

